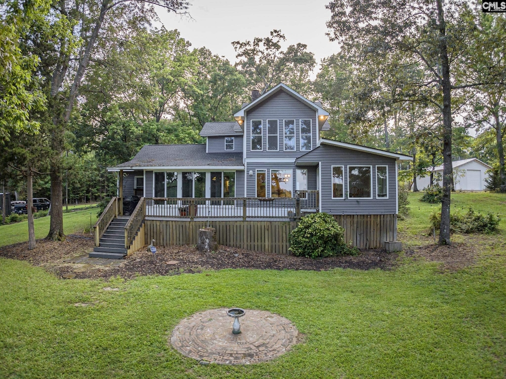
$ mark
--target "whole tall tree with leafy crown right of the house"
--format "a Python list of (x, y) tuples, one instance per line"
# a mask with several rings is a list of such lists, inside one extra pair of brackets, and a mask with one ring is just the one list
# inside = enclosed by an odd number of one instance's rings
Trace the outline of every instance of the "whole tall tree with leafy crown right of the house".
[(465, 49), (468, 38), (468, 34), (459, 29), (459, 10), (455, 4), (443, 4), (443, 0), (411, 3), (334, 0), (327, 9), (332, 12), (327, 22), (332, 40), (340, 40), (351, 49), (362, 49), (366, 53), (364, 58), (396, 56), (396, 60), (388, 60), (392, 64), (383, 74), (404, 72), (406, 66), (417, 67), (423, 72), (423, 77), (415, 81), (403, 81), (398, 77), (402, 91), (396, 93), (396, 97), (431, 103), (441, 112), (444, 169), (439, 243), (449, 244), (452, 182), (450, 67), (452, 59)]

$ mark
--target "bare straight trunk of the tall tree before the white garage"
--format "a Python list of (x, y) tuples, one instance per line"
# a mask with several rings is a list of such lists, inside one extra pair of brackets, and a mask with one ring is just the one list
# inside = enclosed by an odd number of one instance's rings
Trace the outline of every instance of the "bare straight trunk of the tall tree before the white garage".
[(441, 199), (441, 224), (439, 244), (450, 244), (450, 196), (453, 180), (451, 163), (451, 84), (450, 63), (446, 43), (446, 26), (442, 0), (436, 0), (439, 27), (439, 59), (441, 63), (441, 86), (443, 90), (443, 197)]

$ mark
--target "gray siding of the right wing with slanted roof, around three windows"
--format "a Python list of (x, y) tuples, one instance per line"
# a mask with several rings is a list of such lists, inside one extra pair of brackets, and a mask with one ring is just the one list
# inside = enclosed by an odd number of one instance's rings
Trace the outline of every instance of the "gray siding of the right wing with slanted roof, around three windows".
[[(375, 154), (358, 152), (340, 147), (321, 145), (317, 150), (298, 159), (299, 164), (321, 162), (321, 212), (331, 214), (396, 214), (397, 186), (395, 180), (395, 159)], [(388, 199), (376, 199), (376, 166), (388, 167)], [(344, 166), (345, 199), (332, 199), (332, 166)], [(347, 198), (348, 166), (371, 166), (372, 199)]]

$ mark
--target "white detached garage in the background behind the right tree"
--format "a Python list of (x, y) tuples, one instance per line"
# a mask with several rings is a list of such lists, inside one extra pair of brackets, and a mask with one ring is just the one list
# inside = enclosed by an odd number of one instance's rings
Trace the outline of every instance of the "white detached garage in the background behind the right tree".
[[(453, 162), (453, 182), (456, 191), (484, 191), (486, 189), (485, 179), (488, 177), (486, 171), (492, 168), (477, 158), (463, 159)], [(443, 166), (434, 168), (435, 174), (443, 175)], [(430, 184), (430, 175), (417, 177), (416, 184), (419, 189), (427, 188)], [(442, 185), (442, 181), (438, 181)]]

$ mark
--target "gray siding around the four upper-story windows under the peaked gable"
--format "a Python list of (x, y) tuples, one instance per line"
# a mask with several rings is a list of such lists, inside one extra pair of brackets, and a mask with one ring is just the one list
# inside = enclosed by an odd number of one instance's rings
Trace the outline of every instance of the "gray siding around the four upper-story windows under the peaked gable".
[[(283, 120), (295, 120), (296, 150), (284, 151)], [(246, 135), (246, 158), (297, 158), (307, 151), (301, 152), (300, 119), (311, 119), (312, 148), (316, 148), (318, 120), (316, 111), (291, 97), (284, 91), (279, 91), (257, 107), (246, 113), (244, 130)], [(262, 151), (251, 151), (251, 123), (250, 120), (262, 120)], [(267, 151), (267, 120), (278, 120), (278, 151)]]

